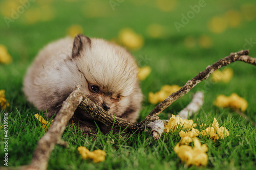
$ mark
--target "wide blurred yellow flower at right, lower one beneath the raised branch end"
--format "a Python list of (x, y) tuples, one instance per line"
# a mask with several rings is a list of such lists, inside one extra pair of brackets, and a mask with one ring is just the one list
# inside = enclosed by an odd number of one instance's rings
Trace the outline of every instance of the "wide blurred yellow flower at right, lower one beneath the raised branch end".
[(232, 93), (230, 96), (225, 96), (223, 94), (218, 95), (216, 101), (214, 101), (214, 105), (217, 107), (240, 109), (242, 112), (248, 107), (247, 101), (236, 93)]

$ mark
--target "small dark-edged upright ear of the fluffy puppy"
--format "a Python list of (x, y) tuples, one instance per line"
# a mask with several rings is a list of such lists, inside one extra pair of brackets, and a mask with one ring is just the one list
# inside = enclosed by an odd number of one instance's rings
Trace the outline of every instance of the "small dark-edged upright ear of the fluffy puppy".
[(79, 56), (82, 50), (85, 50), (87, 47), (91, 48), (91, 46), (92, 42), (89, 37), (78, 34), (74, 39), (72, 58)]

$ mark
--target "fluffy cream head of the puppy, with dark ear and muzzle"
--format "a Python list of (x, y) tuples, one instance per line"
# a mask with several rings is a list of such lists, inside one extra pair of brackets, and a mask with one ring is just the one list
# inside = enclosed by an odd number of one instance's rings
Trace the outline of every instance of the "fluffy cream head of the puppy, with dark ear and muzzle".
[(95, 104), (117, 116), (131, 107), (132, 96), (138, 89), (138, 66), (125, 48), (77, 35), (72, 60), (79, 76), (77, 84)]

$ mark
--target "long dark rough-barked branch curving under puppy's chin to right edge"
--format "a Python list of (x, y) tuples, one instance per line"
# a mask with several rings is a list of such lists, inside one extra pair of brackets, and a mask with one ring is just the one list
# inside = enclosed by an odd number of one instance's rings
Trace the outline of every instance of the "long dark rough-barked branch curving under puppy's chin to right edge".
[(229, 56), (220, 59), (216, 63), (209, 65), (204, 71), (199, 72), (199, 74), (191, 80), (188, 80), (187, 83), (177, 92), (170, 94), (163, 102), (158, 104), (155, 109), (148, 114), (145, 119), (140, 123), (131, 123), (125, 119), (114, 117), (109, 112), (104, 111), (101, 107), (95, 105), (92, 101), (88, 98), (84, 100), (79, 107), (86, 111), (88, 114), (93, 116), (95, 119), (99, 120), (106, 126), (113, 126), (114, 127), (122, 127), (123, 129), (126, 128), (127, 131), (143, 131), (145, 127), (155, 120), (159, 119), (158, 115), (169, 105), (174, 103), (177, 99), (181, 96), (188, 93), (193, 87), (195, 87), (201, 81), (207, 79), (212, 72), (215, 70), (226, 66), (235, 61), (243, 61), (249, 64), (256, 65), (256, 58), (251, 58), (248, 56), (248, 50), (243, 50), (237, 53), (231, 53)]

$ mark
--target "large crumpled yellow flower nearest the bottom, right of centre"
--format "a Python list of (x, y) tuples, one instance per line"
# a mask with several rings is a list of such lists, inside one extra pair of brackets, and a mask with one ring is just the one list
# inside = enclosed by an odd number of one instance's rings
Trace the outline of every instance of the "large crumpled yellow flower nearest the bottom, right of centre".
[(208, 162), (208, 156), (206, 152), (208, 147), (206, 144), (201, 144), (201, 142), (194, 138), (194, 148), (188, 145), (176, 144), (174, 151), (180, 157), (182, 161), (185, 161), (187, 165), (206, 165)]

